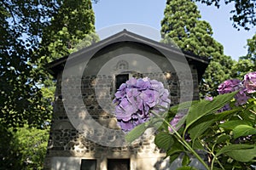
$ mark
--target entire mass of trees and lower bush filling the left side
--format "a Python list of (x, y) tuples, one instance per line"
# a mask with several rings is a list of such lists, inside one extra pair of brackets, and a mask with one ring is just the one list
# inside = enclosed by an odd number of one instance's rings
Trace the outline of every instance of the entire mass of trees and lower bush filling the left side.
[(0, 169), (41, 169), (55, 90), (45, 65), (97, 40), (91, 2), (3, 0), (0, 8)]

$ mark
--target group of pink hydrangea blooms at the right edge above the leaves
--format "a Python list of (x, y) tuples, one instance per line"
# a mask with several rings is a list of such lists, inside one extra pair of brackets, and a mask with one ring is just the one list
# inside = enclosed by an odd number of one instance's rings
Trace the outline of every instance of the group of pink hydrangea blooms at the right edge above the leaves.
[(244, 105), (250, 97), (247, 94), (256, 92), (256, 71), (244, 76), (241, 82), (238, 79), (226, 80), (218, 86), (218, 94), (228, 94), (239, 90), (235, 96), (236, 105)]

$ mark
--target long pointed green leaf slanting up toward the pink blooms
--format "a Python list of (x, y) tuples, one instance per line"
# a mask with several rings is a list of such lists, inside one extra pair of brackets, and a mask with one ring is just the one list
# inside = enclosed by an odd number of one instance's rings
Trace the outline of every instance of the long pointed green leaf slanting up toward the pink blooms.
[(202, 116), (205, 116), (214, 111), (218, 111), (219, 109), (224, 107), (224, 105), (229, 103), (230, 100), (234, 98), (236, 93), (237, 92), (218, 95), (212, 101), (201, 100), (199, 103), (192, 105), (189, 110), (189, 114), (187, 116), (187, 120), (186, 120), (187, 126), (185, 128), (185, 132), (189, 126), (191, 126), (194, 122), (201, 119)]

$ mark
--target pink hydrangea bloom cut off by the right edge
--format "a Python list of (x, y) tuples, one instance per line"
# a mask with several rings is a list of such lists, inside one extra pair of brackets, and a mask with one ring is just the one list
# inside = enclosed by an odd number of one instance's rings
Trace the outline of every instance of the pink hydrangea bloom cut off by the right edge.
[(248, 94), (256, 92), (256, 71), (250, 72), (244, 76), (243, 84)]

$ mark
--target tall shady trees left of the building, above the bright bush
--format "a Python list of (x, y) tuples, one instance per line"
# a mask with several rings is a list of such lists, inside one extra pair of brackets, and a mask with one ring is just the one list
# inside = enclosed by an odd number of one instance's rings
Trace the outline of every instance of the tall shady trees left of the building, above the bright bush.
[(88, 37), (94, 32), (91, 2), (3, 0), (0, 8), (1, 125), (40, 127), (50, 105), (41, 90), (49, 79), (43, 65), (70, 54), (84, 39), (96, 39)]

